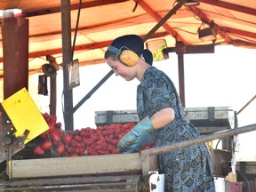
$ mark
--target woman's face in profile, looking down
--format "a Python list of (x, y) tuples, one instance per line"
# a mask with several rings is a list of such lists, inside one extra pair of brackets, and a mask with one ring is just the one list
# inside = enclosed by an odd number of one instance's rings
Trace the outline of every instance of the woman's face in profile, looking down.
[(111, 57), (109, 57), (106, 62), (108, 66), (114, 70), (116, 76), (122, 76), (126, 81), (132, 81), (132, 79), (136, 77), (136, 66), (125, 66), (119, 60), (114, 60)]

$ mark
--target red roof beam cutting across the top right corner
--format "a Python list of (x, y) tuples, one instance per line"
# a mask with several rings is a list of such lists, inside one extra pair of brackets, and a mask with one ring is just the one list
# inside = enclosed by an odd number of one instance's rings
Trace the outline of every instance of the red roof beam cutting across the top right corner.
[(228, 10), (233, 10), (236, 12), (244, 12), (246, 14), (252, 14), (252, 15), (256, 15), (256, 10), (249, 8), (249, 7), (244, 7), (241, 5), (237, 5), (237, 4), (229, 4), (227, 2), (223, 2), (223, 1), (212, 1), (212, 0), (199, 0), (200, 3), (204, 3), (204, 4), (212, 4), (213, 6), (219, 6), (222, 8), (226, 8)]

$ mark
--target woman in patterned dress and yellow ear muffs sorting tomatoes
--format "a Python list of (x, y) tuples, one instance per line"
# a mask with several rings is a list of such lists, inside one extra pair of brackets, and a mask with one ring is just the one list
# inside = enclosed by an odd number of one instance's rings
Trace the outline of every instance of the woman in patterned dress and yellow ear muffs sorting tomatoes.
[[(124, 135), (118, 148), (125, 153), (139, 151), (154, 136), (155, 146), (172, 145), (199, 136), (188, 124), (172, 80), (147, 63), (140, 36), (116, 38), (105, 52), (105, 60), (116, 76), (126, 81), (138, 79), (137, 113), (140, 123)], [(165, 174), (164, 190), (215, 191), (212, 163), (204, 143), (159, 154), (160, 173)]]

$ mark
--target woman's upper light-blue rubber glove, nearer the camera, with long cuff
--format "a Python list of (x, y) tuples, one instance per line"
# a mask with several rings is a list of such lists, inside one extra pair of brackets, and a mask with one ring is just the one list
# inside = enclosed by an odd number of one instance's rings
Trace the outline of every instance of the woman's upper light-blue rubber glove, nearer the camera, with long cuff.
[(121, 138), (117, 147), (120, 148), (121, 151), (128, 151), (140, 135), (152, 132), (153, 130), (155, 130), (155, 127), (147, 116), (142, 119), (139, 124), (136, 124), (130, 132), (127, 132), (123, 138)]

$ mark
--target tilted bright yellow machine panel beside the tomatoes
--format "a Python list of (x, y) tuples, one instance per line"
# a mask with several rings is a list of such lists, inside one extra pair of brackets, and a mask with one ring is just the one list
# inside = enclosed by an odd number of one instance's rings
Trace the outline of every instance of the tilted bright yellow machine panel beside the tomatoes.
[(22, 136), (26, 130), (29, 131), (24, 144), (49, 129), (44, 116), (36, 107), (26, 88), (12, 94), (2, 102), (2, 106), (16, 128), (15, 137)]

